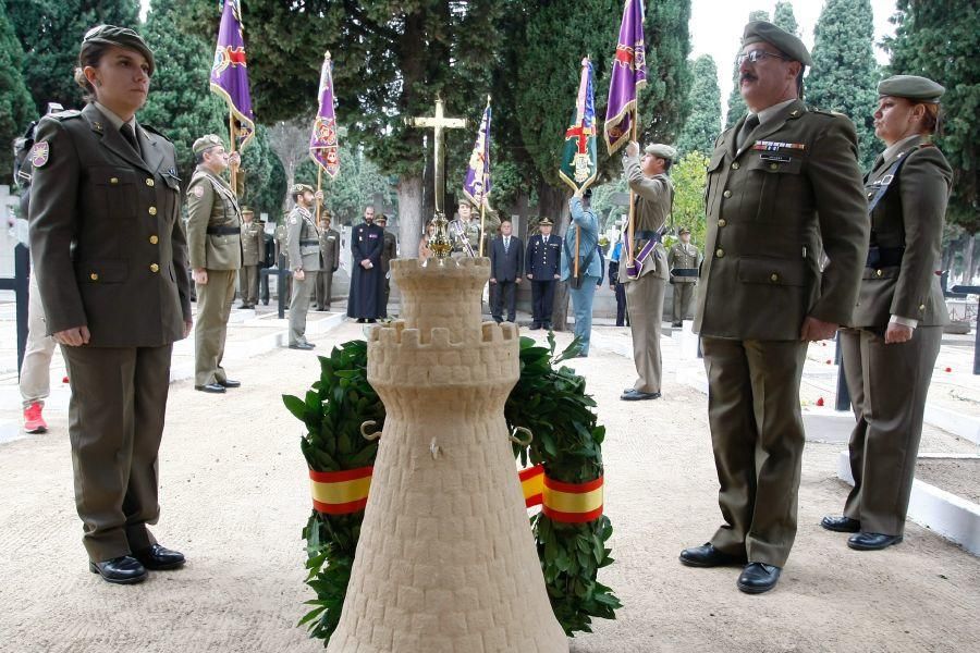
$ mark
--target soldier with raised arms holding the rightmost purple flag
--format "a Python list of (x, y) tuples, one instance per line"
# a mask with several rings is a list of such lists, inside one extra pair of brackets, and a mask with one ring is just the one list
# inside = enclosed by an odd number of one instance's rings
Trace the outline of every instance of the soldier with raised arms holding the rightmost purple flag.
[[(642, 159), (639, 158), (639, 145), (630, 143), (623, 156), (626, 181), (636, 194), (634, 260), (629, 260), (628, 242), (620, 255), (620, 281), (626, 287), (633, 361), (637, 373), (633, 387), (627, 387), (620, 395), (625, 402), (660, 397), (663, 377), (660, 326), (667, 279), (666, 252), (661, 234), (674, 201), (674, 184), (669, 173), (676, 156), (677, 150), (662, 143), (648, 145)], [(624, 237), (629, 238), (628, 229)]]

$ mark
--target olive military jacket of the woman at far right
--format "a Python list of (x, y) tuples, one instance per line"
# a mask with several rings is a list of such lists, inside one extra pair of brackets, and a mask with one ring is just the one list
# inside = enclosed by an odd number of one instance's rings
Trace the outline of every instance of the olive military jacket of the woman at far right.
[[(904, 157), (898, 174), (887, 178), (892, 164)], [(871, 213), (872, 252), (850, 325), (883, 329), (892, 316), (917, 320), (922, 326), (950, 322), (935, 270), (942, 260), (952, 180), (943, 152), (921, 137), (904, 143), (887, 160), (879, 157), (865, 177), (866, 196), (870, 201), (882, 184), (887, 189)], [(883, 258), (875, 257), (874, 247)]]

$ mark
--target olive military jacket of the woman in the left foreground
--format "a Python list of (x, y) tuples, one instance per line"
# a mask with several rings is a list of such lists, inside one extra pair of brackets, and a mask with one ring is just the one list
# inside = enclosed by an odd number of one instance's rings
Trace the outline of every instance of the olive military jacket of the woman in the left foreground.
[(173, 144), (138, 125), (140, 157), (94, 104), (44, 118), (36, 135), (30, 259), (48, 334), (88, 326), (94, 347), (181, 340), (191, 283)]

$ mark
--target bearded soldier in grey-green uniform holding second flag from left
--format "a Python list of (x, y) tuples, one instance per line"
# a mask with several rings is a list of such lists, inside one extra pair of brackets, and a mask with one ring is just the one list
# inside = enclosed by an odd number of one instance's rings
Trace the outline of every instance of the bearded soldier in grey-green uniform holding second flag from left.
[(290, 271), (293, 273), (293, 296), (290, 299), (290, 349), (313, 349), (306, 340), (306, 313), (309, 295), (320, 271), (320, 231), (310, 208), (322, 198), (306, 184), (296, 184), (290, 193), (296, 206), (286, 219), (286, 248)]

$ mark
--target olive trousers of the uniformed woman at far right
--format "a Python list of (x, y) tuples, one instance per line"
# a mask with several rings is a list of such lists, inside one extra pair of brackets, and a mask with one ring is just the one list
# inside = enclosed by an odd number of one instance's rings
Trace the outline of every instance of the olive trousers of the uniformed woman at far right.
[(844, 515), (860, 521), (865, 532), (905, 532), (926, 395), (942, 337), (941, 326), (918, 326), (911, 340), (892, 344), (873, 331), (841, 331), (857, 420), (849, 445), (855, 484)]

